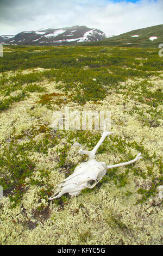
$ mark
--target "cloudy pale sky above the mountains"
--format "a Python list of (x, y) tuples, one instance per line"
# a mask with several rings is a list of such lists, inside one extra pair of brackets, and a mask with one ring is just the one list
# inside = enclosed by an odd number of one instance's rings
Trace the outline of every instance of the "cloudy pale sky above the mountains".
[(85, 25), (118, 35), (163, 23), (163, 0), (0, 0), (0, 35)]

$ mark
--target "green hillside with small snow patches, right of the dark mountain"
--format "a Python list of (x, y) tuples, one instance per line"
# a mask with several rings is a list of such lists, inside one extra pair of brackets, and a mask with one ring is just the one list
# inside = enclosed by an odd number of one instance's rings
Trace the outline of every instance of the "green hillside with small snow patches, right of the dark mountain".
[(90, 42), (89, 45), (158, 48), (161, 43), (163, 44), (163, 24), (136, 29), (99, 42)]

